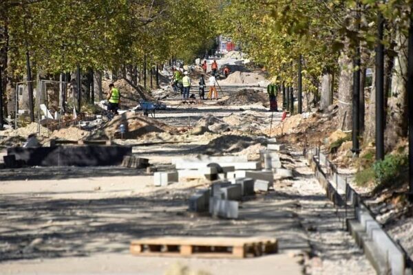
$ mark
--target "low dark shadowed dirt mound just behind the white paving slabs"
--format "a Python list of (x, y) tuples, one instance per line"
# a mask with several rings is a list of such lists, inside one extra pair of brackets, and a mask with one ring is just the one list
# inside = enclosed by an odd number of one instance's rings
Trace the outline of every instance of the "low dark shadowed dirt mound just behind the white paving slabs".
[(237, 153), (249, 146), (260, 144), (253, 137), (246, 135), (222, 135), (211, 140), (207, 145), (202, 145), (194, 149), (206, 155), (222, 155), (225, 153)]

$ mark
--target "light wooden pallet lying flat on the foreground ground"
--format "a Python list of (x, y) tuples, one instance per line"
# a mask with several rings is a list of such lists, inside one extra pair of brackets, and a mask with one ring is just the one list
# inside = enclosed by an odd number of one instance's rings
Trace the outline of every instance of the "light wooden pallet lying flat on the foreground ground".
[(277, 253), (277, 240), (268, 237), (165, 236), (131, 241), (130, 251), (137, 256), (242, 259)]

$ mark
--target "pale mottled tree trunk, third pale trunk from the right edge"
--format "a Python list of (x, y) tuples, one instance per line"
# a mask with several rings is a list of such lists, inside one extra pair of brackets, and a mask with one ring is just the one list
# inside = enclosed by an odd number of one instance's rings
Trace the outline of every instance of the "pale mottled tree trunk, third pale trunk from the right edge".
[(346, 54), (339, 58), (339, 128), (343, 131), (352, 129), (352, 60)]

